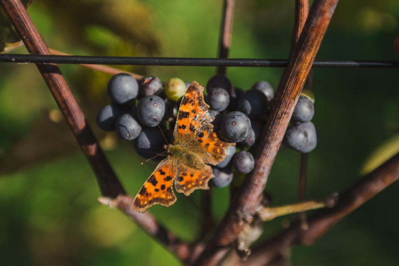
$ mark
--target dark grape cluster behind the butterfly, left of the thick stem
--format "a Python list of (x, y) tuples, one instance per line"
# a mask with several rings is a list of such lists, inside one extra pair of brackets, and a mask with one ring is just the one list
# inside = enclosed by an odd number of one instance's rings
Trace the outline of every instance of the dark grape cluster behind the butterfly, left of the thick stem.
[[(173, 143), (176, 115), (188, 85), (177, 77), (163, 84), (157, 77), (144, 77), (137, 82), (128, 74), (114, 75), (107, 85), (112, 103), (99, 110), (97, 125), (104, 131), (115, 130), (122, 139), (134, 140), (136, 153), (152, 158), (164, 151), (162, 132)], [(215, 75), (207, 82), (204, 99), (210, 106), (209, 115), (214, 117), (212, 124), (218, 137), (237, 143), (213, 167), (215, 177), (211, 183), (225, 187), (233, 179), (233, 169), (243, 174), (253, 170), (253, 150), (265, 127), (274, 90), (270, 83), (258, 81), (242, 91), (233, 87), (225, 75)]]

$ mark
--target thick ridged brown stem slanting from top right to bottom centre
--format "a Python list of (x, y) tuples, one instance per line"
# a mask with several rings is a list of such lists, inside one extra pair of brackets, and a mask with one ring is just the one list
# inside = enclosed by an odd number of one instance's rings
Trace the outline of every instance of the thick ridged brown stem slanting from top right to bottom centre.
[(262, 198), (267, 177), (279, 150), (286, 127), (338, 0), (315, 0), (288, 67), (284, 69), (270, 118), (261, 140), (255, 168), (239, 190), (236, 200), (199, 256), (197, 265), (214, 265), (229, 250), (240, 232), (243, 220), (251, 218)]

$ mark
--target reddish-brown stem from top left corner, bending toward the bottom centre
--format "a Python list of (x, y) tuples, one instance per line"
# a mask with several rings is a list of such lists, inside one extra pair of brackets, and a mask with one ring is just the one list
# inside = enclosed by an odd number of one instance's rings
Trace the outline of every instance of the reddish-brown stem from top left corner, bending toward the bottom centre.
[[(28, 52), (30, 52), (30, 54), (50, 54), (43, 38), (40, 36), (20, 0), (0, 0), (0, 3), (6, 10), (8, 16), (10, 16)], [(83, 153), (87, 157), (97, 177), (101, 194), (105, 197), (116, 198), (117, 206), (124, 213), (135, 220), (148, 234), (166, 244), (168, 249), (175, 252), (180, 259), (186, 260), (188, 258), (188, 244), (181, 242), (173, 234), (166, 231), (166, 229), (160, 226), (148, 212), (143, 214), (133, 212), (132, 198), (125, 195), (122, 185), (99, 147), (93, 132), (85, 121), (83, 113), (57, 65), (36, 64), (36, 66), (53, 94), (59, 109), (71, 127), (73, 135)]]

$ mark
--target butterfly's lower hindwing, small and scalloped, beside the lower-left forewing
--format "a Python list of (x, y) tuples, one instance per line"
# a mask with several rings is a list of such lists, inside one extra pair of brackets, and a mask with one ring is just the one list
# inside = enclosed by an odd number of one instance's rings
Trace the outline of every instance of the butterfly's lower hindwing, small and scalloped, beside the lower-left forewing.
[(212, 168), (209, 165), (205, 165), (201, 170), (187, 165), (179, 165), (178, 175), (175, 180), (176, 191), (188, 196), (195, 189), (209, 189), (208, 181), (212, 177)]

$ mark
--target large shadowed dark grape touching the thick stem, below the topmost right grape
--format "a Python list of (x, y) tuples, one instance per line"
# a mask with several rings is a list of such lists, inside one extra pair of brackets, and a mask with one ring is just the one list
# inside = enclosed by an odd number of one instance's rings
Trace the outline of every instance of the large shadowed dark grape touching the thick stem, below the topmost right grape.
[(267, 98), (258, 89), (249, 89), (241, 95), (237, 103), (237, 110), (249, 117), (256, 117), (267, 112)]

